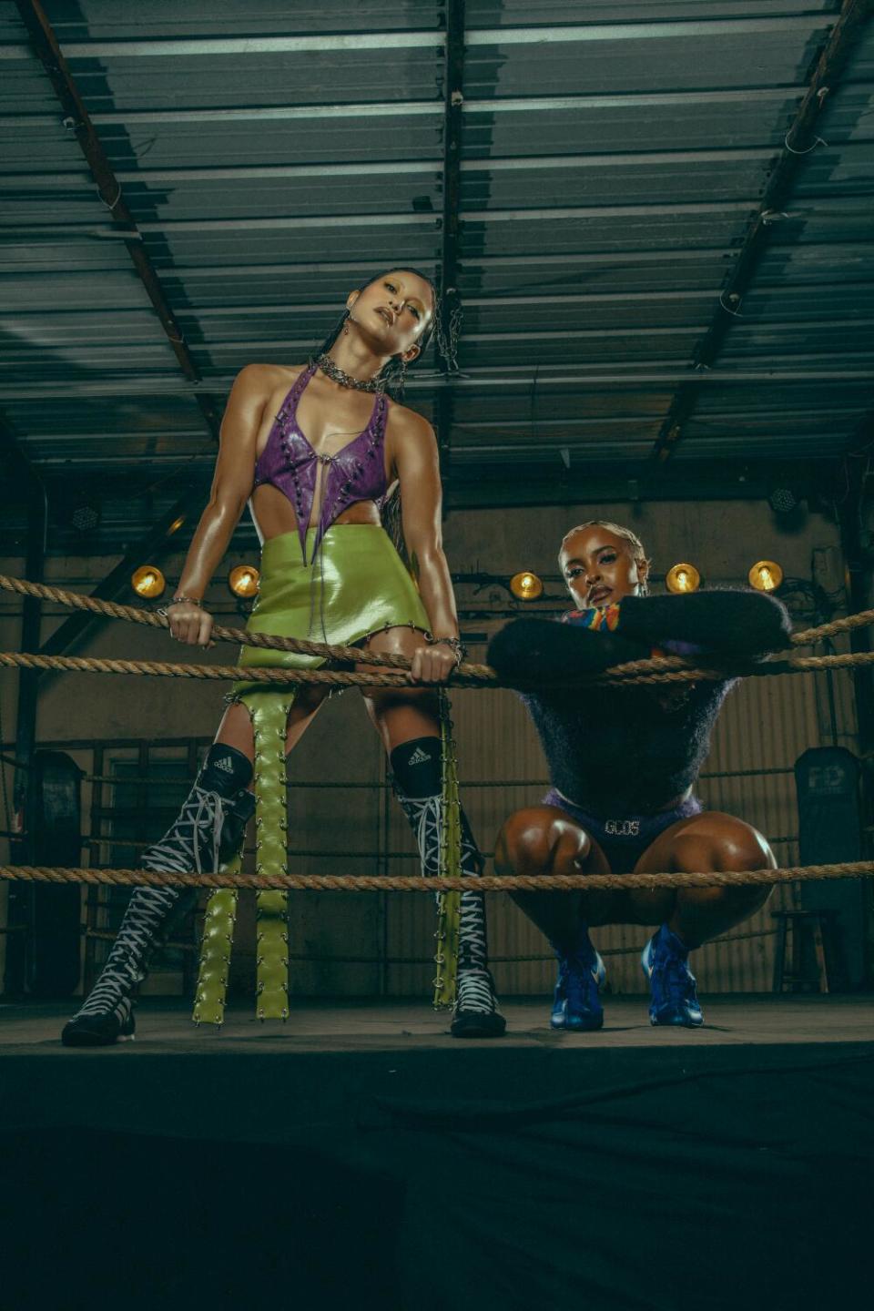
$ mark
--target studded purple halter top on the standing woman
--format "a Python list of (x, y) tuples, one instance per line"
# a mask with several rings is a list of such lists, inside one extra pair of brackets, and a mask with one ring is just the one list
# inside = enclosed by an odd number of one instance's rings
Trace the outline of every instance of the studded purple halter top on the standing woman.
[[(377, 392), (367, 427), (335, 455), (320, 455), (297, 422), (297, 402), (316, 372), (311, 364), (296, 379), (279, 406), (263, 451), (256, 461), (253, 490), (265, 482), (278, 488), (291, 501), (297, 519), (304, 564), (312, 564), (325, 532), (334, 519), (356, 501), (376, 501), (381, 509), (388, 490), (385, 477), (385, 418), (388, 401)], [(313, 513), (318, 465), (324, 468), (321, 507), (312, 558), (307, 561), (307, 528)]]

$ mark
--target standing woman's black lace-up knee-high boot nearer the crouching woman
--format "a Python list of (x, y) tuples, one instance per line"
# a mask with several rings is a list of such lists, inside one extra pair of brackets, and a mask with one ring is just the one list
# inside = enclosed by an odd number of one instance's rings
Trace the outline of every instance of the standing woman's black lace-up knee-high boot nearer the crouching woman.
[[(440, 832), (444, 823), (442, 746), (439, 737), (415, 738), (392, 751), (394, 792), (415, 835), (422, 873), (436, 876), (440, 867)], [(461, 872), (478, 878), (484, 860), (468, 817), (461, 819)], [(456, 1038), (498, 1038), (507, 1021), (498, 1009), (489, 971), (486, 906), (482, 893), (461, 893), (459, 924), (459, 982), (451, 1033)]]

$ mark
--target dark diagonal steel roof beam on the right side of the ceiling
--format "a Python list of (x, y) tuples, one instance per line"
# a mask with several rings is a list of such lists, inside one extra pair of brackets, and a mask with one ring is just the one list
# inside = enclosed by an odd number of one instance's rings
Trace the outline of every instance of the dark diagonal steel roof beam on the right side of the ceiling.
[[(744, 292), (752, 283), (770, 244), (772, 228), (788, 218), (782, 212), (782, 206), (790, 195), (802, 159), (819, 143), (814, 130), (816, 115), (827, 96), (835, 89), (870, 16), (871, 0), (844, 0), (837, 22), (816, 60), (805, 96), (786, 132), (784, 148), (770, 173), (757, 212), (747, 229), (743, 245), (722, 288), (710, 326), (694, 350), (692, 364), (698, 374), (684, 380), (677, 388), (653, 446), (651, 459), (654, 460), (660, 463), (668, 460), (683, 440), (684, 425), (692, 417), (700, 393), (700, 371), (712, 368), (715, 363), (719, 349), (731, 328), (732, 317), (740, 312)], [(790, 138), (793, 144), (790, 144)], [(814, 207), (816, 203), (812, 202)]]

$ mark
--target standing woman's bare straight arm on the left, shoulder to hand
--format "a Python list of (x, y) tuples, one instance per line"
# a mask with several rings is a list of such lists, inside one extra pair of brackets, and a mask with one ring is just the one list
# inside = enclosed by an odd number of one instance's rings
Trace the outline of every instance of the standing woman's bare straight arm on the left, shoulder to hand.
[(270, 366), (248, 364), (237, 374), (228, 397), (210, 499), (177, 589), (178, 595), (191, 600), (168, 607), (172, 635), (190, 645), (206, 646), (210, 641), (212, 616), (191, 602), (200, 600), (208, 587), (252, 493), (258, 429), (273, 391), (273, 374)]

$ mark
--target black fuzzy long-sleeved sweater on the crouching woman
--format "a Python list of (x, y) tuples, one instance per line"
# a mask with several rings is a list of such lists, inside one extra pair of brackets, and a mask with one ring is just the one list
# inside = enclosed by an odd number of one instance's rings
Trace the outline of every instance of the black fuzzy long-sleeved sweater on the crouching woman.
[[(489, 662), (520, 680), (592, 673), (653, 646), (752, 658), (788, 645), (785, 607), (753, 591), (626, 597), (613, 632), (516, 620), (495, 635)], [(583, 612), (584, 614), (584, 612)], [(582, 616), (580, 616), (582, 617)], [(592, 814), (651, 814), (689, 789), (736, 679), (629, 688), (580, 686), (523, 694), (553, 787)]]

